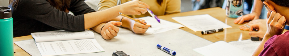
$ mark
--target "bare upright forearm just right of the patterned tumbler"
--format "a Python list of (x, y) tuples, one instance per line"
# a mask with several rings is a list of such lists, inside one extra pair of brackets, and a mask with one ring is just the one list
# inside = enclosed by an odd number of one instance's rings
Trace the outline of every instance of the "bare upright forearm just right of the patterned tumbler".
[(262, 8), (263, 8), (263, 2), (261, 2), (260, 0), (254, 0), (252, 14), (255, 14), (259, 17), (261, 14)]

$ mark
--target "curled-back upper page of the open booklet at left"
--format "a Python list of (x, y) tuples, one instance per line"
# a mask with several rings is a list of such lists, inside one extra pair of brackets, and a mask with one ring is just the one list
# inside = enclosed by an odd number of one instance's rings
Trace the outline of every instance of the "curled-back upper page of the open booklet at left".
[(90, 30), (82, 32), (69, 32), (65, 30), (46, 31), (31, 33), (35, 42), (50, 42), (74, 39), (89, 39), (94, 38), (94, 33)]

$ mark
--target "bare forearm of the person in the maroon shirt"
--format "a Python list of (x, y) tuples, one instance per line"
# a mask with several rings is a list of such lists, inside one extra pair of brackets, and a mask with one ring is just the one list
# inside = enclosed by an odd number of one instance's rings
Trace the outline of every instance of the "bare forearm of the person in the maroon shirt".
[(260, 43), (260, 45), (258, 46), (257, 50), (254, 52), (253, 56), (258, 56), (262, 50), (264, 50), (264, 44), (265, 42), (268, 41), (269, 38), (271, 38), (272, 36), (270, 34), (265, 34), (264, 38), (262, 40), (262, 42)]

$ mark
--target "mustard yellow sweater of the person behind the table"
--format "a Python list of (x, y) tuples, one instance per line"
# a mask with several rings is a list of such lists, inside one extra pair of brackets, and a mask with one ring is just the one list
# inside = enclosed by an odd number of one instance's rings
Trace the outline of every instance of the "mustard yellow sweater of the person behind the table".
[[(121, 0), (121, 4), (132, 0)], [(157, 3), (157, 0), (140, 0), (150, 6), (150, 10), (157, 16), (174, 14), (181, 12), (181, 0), (163, 0), (161, 5)], [(117, 0), (100, 0), (97, 6), (97, 11), (105, 10), (117, 5)], [(132, 15), (133, 18), (140, 18), (145, 16), (151, 16), (149, 13), (141, 15)]]

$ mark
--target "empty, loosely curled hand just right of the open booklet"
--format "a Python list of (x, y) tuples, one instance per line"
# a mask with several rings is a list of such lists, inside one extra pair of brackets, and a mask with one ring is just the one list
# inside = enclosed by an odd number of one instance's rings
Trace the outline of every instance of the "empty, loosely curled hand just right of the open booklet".
[(117, 36), (117, 33), (119, 32), (119, 28), (117, 26), (122, 25), (121, 22), (107, 22), (103, 28), (101, 29), (101, 35), (103, 36), (103, 39), (105, 40), (111, 40), (113, 37)]

